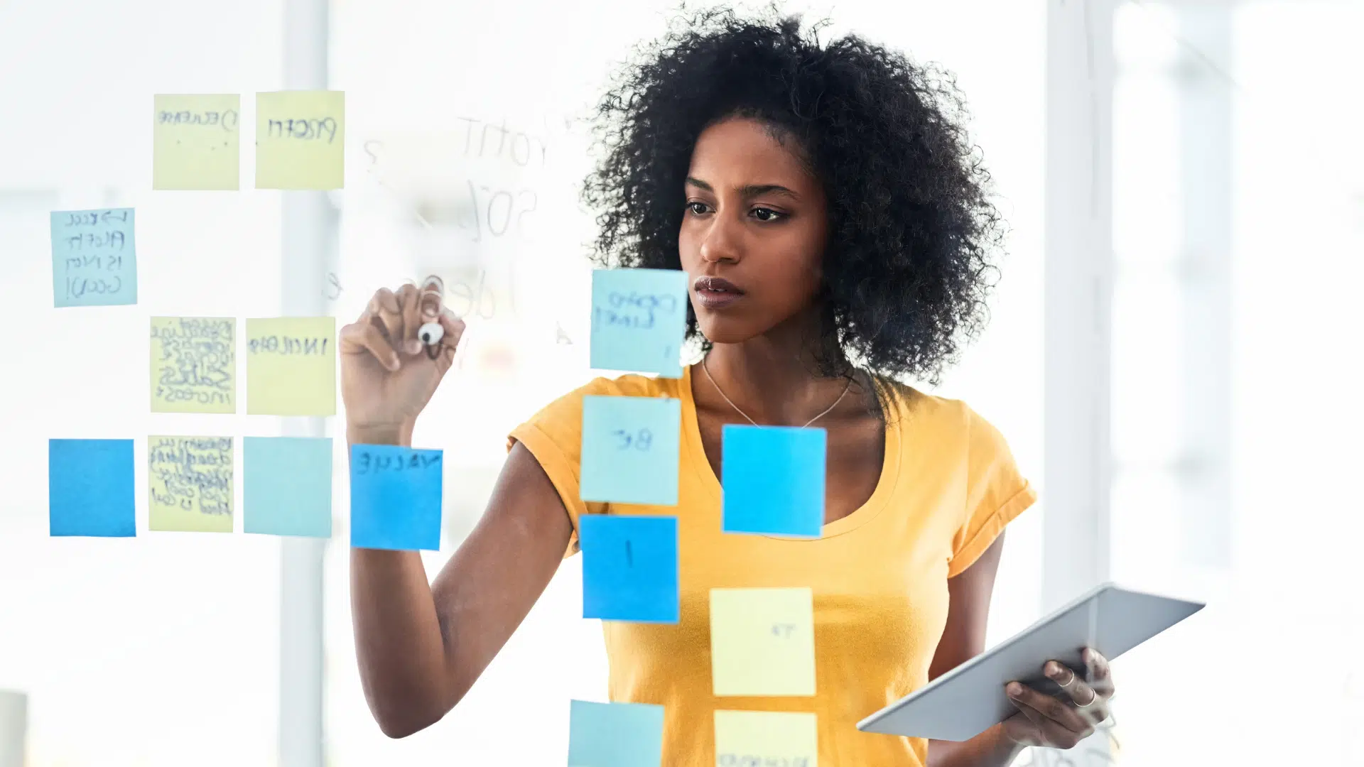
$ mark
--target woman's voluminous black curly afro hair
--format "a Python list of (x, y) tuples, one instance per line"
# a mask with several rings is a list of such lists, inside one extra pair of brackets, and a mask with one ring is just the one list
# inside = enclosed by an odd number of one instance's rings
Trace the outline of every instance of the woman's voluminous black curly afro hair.
[[(693, 11), (634, 50), (596, 105), (592, 259), (681, 269), (683, 184), (697, 136), (731, 116), (791, 136), (828, 199), (817, 302), (825, 375), (848, 363), (937, 384), (988, 318), (1003, 239), (990, 177), (951, 74), (846, 35), (821, 45), (799, 16)], [(687, 338), (700, 337), (687, 308)]]

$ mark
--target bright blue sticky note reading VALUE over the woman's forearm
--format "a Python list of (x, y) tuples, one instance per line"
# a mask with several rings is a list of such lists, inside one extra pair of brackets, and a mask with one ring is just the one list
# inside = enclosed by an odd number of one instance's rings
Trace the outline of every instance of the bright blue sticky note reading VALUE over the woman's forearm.
[(441, 549), (441, 450), (351, 446), (351, 546)]

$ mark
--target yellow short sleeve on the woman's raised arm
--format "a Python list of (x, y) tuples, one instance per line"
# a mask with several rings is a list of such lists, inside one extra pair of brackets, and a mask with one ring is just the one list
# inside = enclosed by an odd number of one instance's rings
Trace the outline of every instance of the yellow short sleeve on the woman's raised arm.
[(606, 512), (606, 504), (588, 502), (580, 497), (578, 478), (582, 452), (582, 397), (588, 394), (611, 394), (612, 381), (596, 378), (592, 382), (563, 394), (535, 414), (531, 420), (512, 430), (507, 435), (507, 452), (513, 445), (525, 445), (540, 468), (550, 476), (558, 490), (563, 508), (573, 521), (573, 535), (563, 557), (578, 551), (578, 520), (582, 515)]

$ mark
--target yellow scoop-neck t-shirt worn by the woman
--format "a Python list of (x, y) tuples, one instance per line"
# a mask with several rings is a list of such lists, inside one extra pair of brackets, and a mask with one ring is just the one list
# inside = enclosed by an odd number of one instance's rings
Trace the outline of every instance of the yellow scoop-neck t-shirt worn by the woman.
[[(507, 439), (522, 442), (573, 519), (678, 517), (681, 620), (603, 621), (612, 701), (664, 706), (664, 767), (715, 767), (715, 711), (805, 711), (818, 722), (820, 767), (926, 764), (928, 742), (862, 733), (857, 723), (928, 682), (947, 624), (947, 579), (971, 565), (1004, 525), (1037, 500), (1000, 433), (964, 403), (893, 386), (885, 463), (870, 500), (824, 525), (821, 538), (724, 534), (720, 482), (701, 448), (690, 368), (681, 379), (597, 378), (555, 400)], [(678, 505), (578, 498), (582, 397), (682, 400)], [(711, 588), (810, 587), (814, 594), (812, 697), (712, 695)]]

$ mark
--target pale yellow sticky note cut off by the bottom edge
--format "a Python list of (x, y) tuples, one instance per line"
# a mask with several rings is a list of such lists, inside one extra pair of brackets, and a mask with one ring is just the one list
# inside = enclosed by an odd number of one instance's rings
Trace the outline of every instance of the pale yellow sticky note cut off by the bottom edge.
[(782, 764), (817, 767), (818, 727), (814, 714), (786, 711), (716, 711), (716, 767)]

